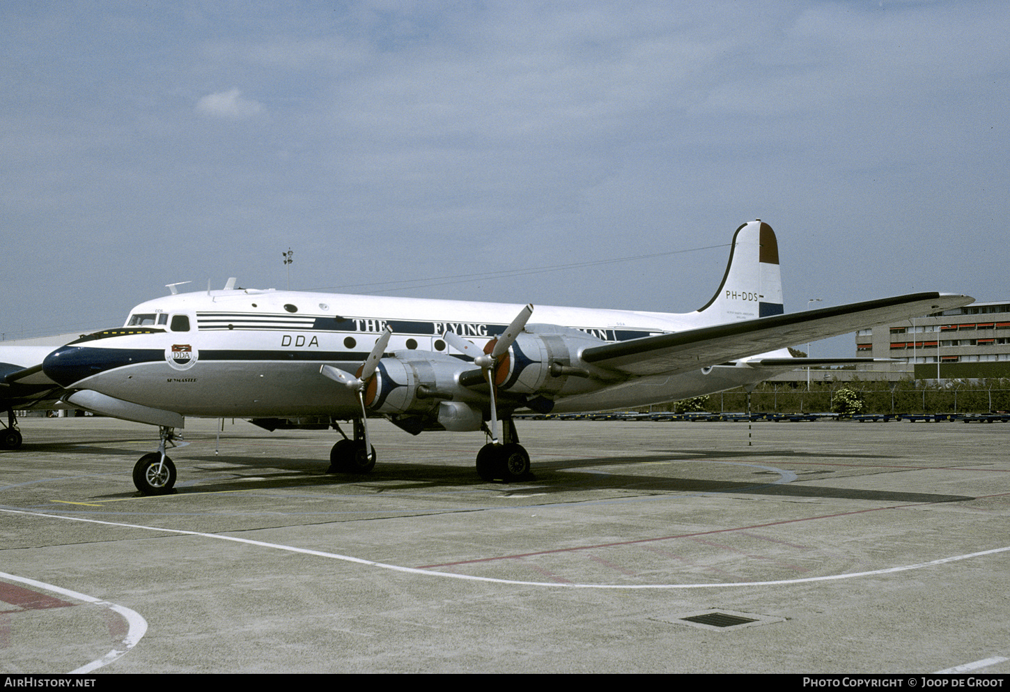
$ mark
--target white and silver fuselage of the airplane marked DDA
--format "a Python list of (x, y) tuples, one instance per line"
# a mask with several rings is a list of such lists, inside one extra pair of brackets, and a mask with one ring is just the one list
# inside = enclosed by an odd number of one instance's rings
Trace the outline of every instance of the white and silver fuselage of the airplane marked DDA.
[[(517, 309), (505, 303), (275, 290), (170, 295), (137, 305), (123, 327), (65, 347), (45, 369), (65, 386), (182, 415), (343, 418), (359, 412), (357, 399), (320, 377), (320, 366), (354, 372), (387, 327), (393, 331), (387, 353), (460, 359), (443, 339), (445, 331), (484, 345)], [(537, 306), (535, 312), (537, 323), (567, 325), (571, 338), (587, 347), (690, 328), (696, 325), (692, 317), (556, 306)], [(627, 382), (569, 377), (554, 383), (552, 410), (659, 403), (767, 377), (745, 366)]]

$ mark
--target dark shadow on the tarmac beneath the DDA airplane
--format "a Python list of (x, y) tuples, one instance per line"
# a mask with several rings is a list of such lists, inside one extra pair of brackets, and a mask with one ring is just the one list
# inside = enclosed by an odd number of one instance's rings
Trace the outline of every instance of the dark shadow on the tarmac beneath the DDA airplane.
[[(124, 473), (128, 473), (131, 461), (124, 456), (124, 451), (107, 448), (88, 448), (78, 450), (88, 455), (110, 456), (110, 464), (122, 459)], [(765, 462), (763, 458), (772, 458)], [(185, 458), (176, 457), (180, 469), (180, 480), (176, 490), (180, 494), (237, 492), (255, 490), (280, 490), (290, 488), (322, 488), (344, 485), (371, 485), (374, 492), (435, 490), (462, 488), (470, 486), (493, 485), (502, 491), (514, 488), (516, 492), (529, 492), (535, 489), (540, 495), (553, 493), (572, 493), (592, 490), (632, 490), (655, 493), (748, 493), (755, 495), (774, 495), (780, 497), (810, 497), (835, 498), (847, 500), (870, 500), (874, 502), (895, 502), (912, 504), (931, 504), (941, 502), (964, 502), (975, 499), (965, 495), (945, 495), (937, 493), (900, 492), (894, 490), (832, 488), (810, 485), (809, 482), (793, 481), (776, 483), (775, 471), (759, 467), (775, 466), (776, 459), (783, 457), (795, 459), (889, 459), (890, 456), (850, 455), (850, 454), (810, 454), (790, 451), (747, 451), (727, 453), (725, 451), (677, 450), (661, 451), (656, 454), (631, 457), (599, 457), (593, 459), (557, 460), (534, 463), (532, 473), (526, 481), (513, 484), (489, 484), (477, 477), (473, 468), (459, 465), (416, 462), (399, 463), (386, 462), (378, 465), (367, 475), (328, 474), (325, 473), (328, 462), (318, 459), (276, 459), (241, 456), (199, 456)], [(705, 478), (705, 471), (715, 468), (706, 462), (726, 462), (738, 465), (740, 480), (713, 480)], [(751, 461), (752, 464), (746, 464)], [(698, 464), (699, 475), (692, 478), (683, 474), (684, 465)], [(204, 467), (213, 464), (212, 468)], [(222, 468), (229, 466), (232, 470)], [(614, 473), (614, 467), (648, 464), (649, 473), (627, 474)], [(681, 467), (681, 475), (656, 475), (659, 465), (676, 464)], [(871, 462), (871, 466), (872, 466)], [(748, 468), (749, 466), (749, 468)], [(601, 467), (609, 467), (607, 470)], [(725, 474), (727, 467), (720, 466)], [(592, 469), (592, 470), (591, 470)], [(804, 473), (804, 471), (800, 471)], [(827, 475), (834, 470), (816, 470), (806, 473)], [(758, 478), (748, 478), (759, 476)], [(201, 478), (202, 477), (202, 478)], [(392, 484), (392, 485), (390, 485)], [(130, 489), (122, 492), (102, 495), (106, 498), (121, 498), (136, 495)]]

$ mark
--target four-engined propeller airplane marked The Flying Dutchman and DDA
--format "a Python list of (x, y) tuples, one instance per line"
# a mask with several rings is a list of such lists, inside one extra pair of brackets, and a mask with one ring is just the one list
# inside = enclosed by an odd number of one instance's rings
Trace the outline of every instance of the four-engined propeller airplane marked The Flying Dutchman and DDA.
[[(413, 434), (484, 430), (478, 474), (515, 481), (530, 469), (517, 412), (644, 406), (858, 362), (793, 358), (787, 347), (973, 300), (916, 293), (785, 314), (775, 232), (759, 219), (736, 229), (721, 285), (694, 312), (254, 290), (229, 280), (224, 290), (173, 286), (124, 326), (48, 354), (41, 370), (72, 406), (159, 426), (158, 452), (133, 470), (144, 494), (171, 492), (166, 450), (186, 416), (268, 427), (320, 418), (342, 436), (330, 471), (348, 473), (375, 465), (370, 416)], [(350, 421), (351, 437), (338, 421)]]

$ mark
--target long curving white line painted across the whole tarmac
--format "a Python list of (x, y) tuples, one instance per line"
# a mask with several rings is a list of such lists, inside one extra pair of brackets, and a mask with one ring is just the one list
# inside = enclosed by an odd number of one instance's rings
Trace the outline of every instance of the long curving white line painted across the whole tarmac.
[(898, 572), (907, 572), (909, 570), (920, 570), (925, 567), (933, 567), (936, 565), (945, 565), (946, 563), (953, 563), (961, 560), (970, 560), (972, 558), (981, 558), (987, 555), (995, 555), (997, 553), (1006, 553), (1010, 551), (1010, 546), (1004, 548), (994, 548), (989, 551), (980, 551), (979, 553), (969, 553), (966, 555), (956, 555), (949, 558), (940, 558), (939, 560), (931, 560), (926, 563), (916, 563), (914, 565), (902, 565), (900, 567), (888, 567), (882, 570), (872, 570), (869, 572), (852, 572), (848, 574), (835, 574), (835, 575), (824, 575), (821, 577), (803, 577), (799, 579), (779, 579), (769, 582), (732, 582), (727, 584), (574, 584), (574, 583), (560, 583), (560, 582), (527, 582), (520, 581), (516, 579), (497, 579), (495, 577), (476, 577), (467, 574), (453, 574), (451, 572), (437, 572), (434, 570), (421, 570), (416, 567), (403, 567), (401, 565), (390, 565), (388, 563), (377, 563), (372, 560), (365, 560), (363, 558), (355, 558), (349, 555), (340, 555), (339, 553), (326, 553), (324, 551), (313, 551), (306, 548), (296, 548), (294, 546), (283, 546), (281, 543), (269, 543), (263, 540), (252, 540), (250, 538), (239, 538), (231, 535), (221, 535), (218, 533), (203, 533), (201, 531), (186, 531), (180, 528), (162, 528), (159, 526), (144, 526), (141, 524), (128, 524), (119, 523), (116, 521), (102, 521), (100, 519), (86, 519), (79, 516), (63, 516), (60, 514), (45, 514), (44, 512), (29, 512), (19, 509), (0, 509), (0, 511), (8, 512), (11, 514), (26, 514), (29, 516), (39, 516), (45, 517), (47, 519), (64, 519), (66, 521), (83, 521), (86, 523), (96, 523), (103, 524), (106, 526), (120, 526), (123, 528), (139, 528), (147, 531), (160, 531), (163, 533), (178, 533), (181, 535), (197, 535), (204, 538), (210, 538), (214, 540), (230, 540), (236, 543), (245, 543), (247, 546), (259, 546), (260, 548), (271, 548), (278, 551), (287, 551), (289, 553), (299, 553), (301, 555), (311, 555), (317, 558), (327, 558), (329, 560), (340, 560), (347, 563), (354, 563), (357, 565), (366, 565), (368, 567), (378, 567), (384, 570), (392, 570), (394, 572), (405, 572), (408, 574), (425, 575), (428, 577), (444, 577), (447, 579), (462, 579), (465, 581), (473, 582), (490, 582), (493, 584), (509, 584), (514, 586), (546, 586), (554, 589), (623, 589), (623, 590), (645, 590), (645, 589), (726, 589), (726, 588), (737, 588), (741, 586), (785, 586), (789, 584), (809, 584), (811, 582), (828, 582), (828, 581), (839, 581), (842, 579), (855, 579), (857, 577), (872, 577), (876, 575), (884, 574), (896, 574)]

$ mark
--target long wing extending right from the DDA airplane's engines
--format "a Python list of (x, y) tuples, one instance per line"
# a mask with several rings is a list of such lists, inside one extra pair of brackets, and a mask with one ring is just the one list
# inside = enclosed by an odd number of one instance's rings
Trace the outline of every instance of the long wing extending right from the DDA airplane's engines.
[(974, 301), (948, 293), (912, 293), (591, 347), (582, 360), (629, 375), (676, 375)]

